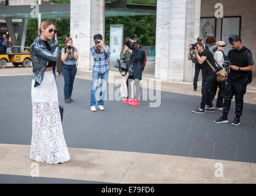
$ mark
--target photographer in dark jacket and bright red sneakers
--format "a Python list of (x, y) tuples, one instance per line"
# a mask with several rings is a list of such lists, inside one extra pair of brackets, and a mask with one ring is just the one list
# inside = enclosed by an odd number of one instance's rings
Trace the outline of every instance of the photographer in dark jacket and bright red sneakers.
[[(139, 81), (142, 79), (142, 66), (145, 59), (145, 51), (143, 50), (141, 42), (138, 39), (126, 40), (125, 45), (132, 50), (132, 53), (130, 57), (129, 77), (126, 81), (128, 97), (126, 97), (124, 102), (129, 105), (139, 105)], [(131, 100), (131, 81), (133, 80), (136, 91), (134, 99)]]

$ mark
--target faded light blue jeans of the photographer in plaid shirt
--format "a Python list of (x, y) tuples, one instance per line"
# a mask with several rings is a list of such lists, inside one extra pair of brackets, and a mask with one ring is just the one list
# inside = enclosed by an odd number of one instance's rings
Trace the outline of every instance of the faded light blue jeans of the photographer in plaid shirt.
[(91, 103), (90, 106), (96, 105), (96, 91), (98, 89), (98, 82), (99, 78), (101, 78), (101, 92), (99, 92), (99, 100), (98, 100), (98, 105), (104, 105), (104, 97), (105, 97), (105, 92), (107, 88), (107, 78), (109, 77), (109, 70), (104, 72), (103, 74), (98, 74), (98, 72), (93, 71), (93, 78), (91, 81)]

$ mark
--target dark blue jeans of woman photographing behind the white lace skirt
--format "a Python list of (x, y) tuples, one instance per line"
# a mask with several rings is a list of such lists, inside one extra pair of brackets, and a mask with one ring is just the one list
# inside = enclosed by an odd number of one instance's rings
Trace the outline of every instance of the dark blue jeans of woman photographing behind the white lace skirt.
[(72, 90), (73, 90), (73, 83), (77, 73), (76, 64), (72, 66), (63, 64), (62, 73), (64, 76), (64, 99), (68, 99), (71, 97)]

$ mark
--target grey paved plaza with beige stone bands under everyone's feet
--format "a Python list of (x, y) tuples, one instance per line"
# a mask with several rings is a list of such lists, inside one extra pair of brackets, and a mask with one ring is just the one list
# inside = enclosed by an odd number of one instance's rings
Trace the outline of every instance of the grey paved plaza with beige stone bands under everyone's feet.
[[(31, 178), (32, 75), (23, 75), (31, 68), (18, 69), (16, 75), (0, 70), (0, 183), (256, 183), (256, 94), (247, 92), (239, 127), (231, 126), (234, 102), (230, 123), (215, 124), (222, 112), (192, 113), (200, 92), (175, 83), (162, 85), (160, 107), (149, 107), (150, 100), (139, 107), (106, 100), (105, 111), (91, 112), (86, 72), (77, 74), (72, 104), (64, 103), (64, 79), (56, 75), (71, 161), (40, 164), (40, 178)], [(175, 86), (177, 92), (166, 91)], [(217, 162), (224, 165), (223, 178), (214, 176)]]

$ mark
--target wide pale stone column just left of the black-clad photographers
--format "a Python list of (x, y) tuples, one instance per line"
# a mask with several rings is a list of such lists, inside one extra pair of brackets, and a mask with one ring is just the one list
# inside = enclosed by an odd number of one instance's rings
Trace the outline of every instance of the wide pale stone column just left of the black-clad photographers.
[(157, 1), (156, 78), (165, 81), (193, 79), (187, 48), (199, 35), (200, 6), (201, 0)]

